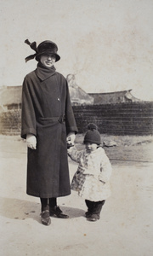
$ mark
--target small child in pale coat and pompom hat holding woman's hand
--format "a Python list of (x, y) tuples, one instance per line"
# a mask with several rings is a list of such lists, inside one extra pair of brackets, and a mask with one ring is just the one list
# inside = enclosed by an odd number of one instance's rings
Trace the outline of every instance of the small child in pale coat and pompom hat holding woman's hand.
[(85, 213), (86, 218), (89, 221), (96, 221), (100, 218), (105, 199), (111, 195), (109, 183), (111, 163), (105, 150), (100, 147), (101, 137), (96, 125), (88, 125), (83, 143), (85, 149), (82, 151), (68, 146), (68, 155), (71, 160), (79, 163), (71, 182), (71, 189), (85, 199), (88, 207), (88, 212)]

